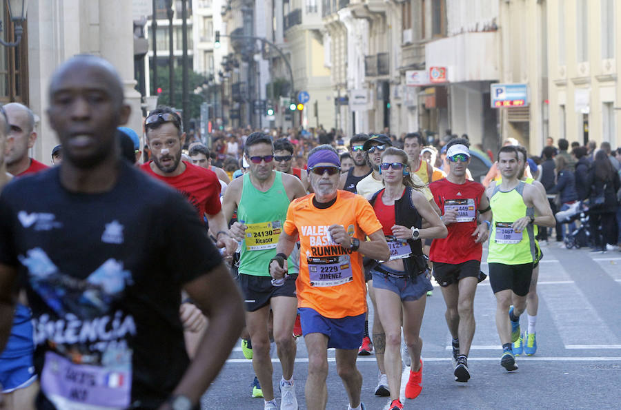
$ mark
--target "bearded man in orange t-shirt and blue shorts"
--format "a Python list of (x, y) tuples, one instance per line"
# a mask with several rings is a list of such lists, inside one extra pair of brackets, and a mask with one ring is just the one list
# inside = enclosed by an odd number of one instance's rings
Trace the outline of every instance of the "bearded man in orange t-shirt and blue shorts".
[[(338, 190), (339, 156), (330, 145), (319, 145), (308, 155), (308, 170), (315, 194), (293, 201), (287, 211), (270, 274), (286, 273), (288, 254), (299, 236), (301, 266), (296, 283), (298, 311), (308, 349), (306, 407), (325, 409), (328, 400), (328, 348), (336, 349), (336, 362), (349, 398), (348, 409), (363, 409), (362, 375), (356, 368), (362, 342), (366, 288), (362, 254), (390, 256), (382, 225), (362, 196)], [(370, 240), (364, 240), (368, 236)]]

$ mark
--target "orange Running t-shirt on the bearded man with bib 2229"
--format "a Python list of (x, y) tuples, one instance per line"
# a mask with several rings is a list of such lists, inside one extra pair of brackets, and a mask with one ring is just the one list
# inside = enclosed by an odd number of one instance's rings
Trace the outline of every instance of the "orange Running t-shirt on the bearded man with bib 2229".
[(284, 232), (299, 235), (300, 267), (295, 283), (297, 306), (310, 307), (326, 318), (357, 316), (366, 311), (362, 255), (337, 245), (328, 234), (331, 225), (343, 225), (360, 241), (382, 229), (371, 205), (362, 196), (337, 191), (326, 209), (313, 205), (315, 194), (289, 204)]

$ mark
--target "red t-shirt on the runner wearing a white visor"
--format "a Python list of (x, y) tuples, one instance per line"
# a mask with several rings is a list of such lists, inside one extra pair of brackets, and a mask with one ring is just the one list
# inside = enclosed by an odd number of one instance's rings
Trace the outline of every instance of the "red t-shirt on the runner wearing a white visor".
[(459, 212), (457, 221), (461, 220), (446, 226), (449, 229), (449, 235), (446, 238), (433, 240), (429, 259), (432, 262), (453, 265), (468, 260), (481, 260), (483, 245), (475, 243), (475, 237), (472, 234), (477, 229), (477, 209), (479, 209), (485, 187), (467, 179), (465, 183), (458, 185), (444, 178), (431, 183), (429, 188), (442, 215), (444, 215), (445, 207), (447, 209), (457, 208)]

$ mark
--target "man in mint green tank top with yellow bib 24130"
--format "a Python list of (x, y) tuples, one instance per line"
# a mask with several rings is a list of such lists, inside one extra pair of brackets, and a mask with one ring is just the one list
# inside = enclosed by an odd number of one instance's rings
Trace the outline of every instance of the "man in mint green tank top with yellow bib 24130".
[(306, 195), (306, 191), (295, 176), (274, 170), (274, 145), (267, 134), (250, 134), (244, 155), (250, 170), (228, 185), (222, 211), (230, 220), (237, 208), (237, 222), (230, 227), (230, 235), (243, 241), (238, 282), (244, 293), (246, 327), (253, 345), (253, 367), (263, 390), (265, 409), (276, 409), (268, 335), (271, 307), (274, 339), (283, 372), (280, 408), (297, 409), (293, 385), (296, 349), (292, 336), (297, 309), (297, 274), (289, 275), (283, 285), (275, 286), (267, 267), (276, 256), (276, 245), (289, 203)]

